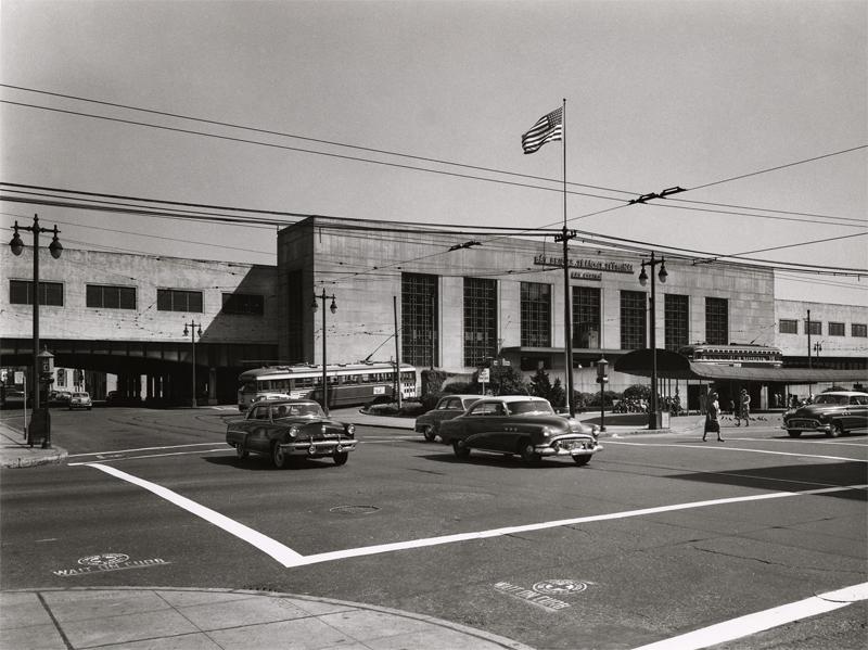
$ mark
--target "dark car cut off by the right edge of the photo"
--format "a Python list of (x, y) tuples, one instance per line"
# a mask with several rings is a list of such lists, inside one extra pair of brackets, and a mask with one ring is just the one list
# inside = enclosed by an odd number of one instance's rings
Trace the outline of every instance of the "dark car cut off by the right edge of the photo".
[(803, 432), (838, 437), (856, 429), (868, 429), (868, 393), (820, 393), (812, 404), (783, 413), (781, 429), (792, 437), (799, 437)]

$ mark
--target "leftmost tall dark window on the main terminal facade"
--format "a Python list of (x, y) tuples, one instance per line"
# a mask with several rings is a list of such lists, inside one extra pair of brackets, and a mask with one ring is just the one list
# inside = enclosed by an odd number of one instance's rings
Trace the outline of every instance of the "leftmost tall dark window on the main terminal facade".
[(401, 273), (401, 360), (412, 366), (435, 365), (437, 358), (437, 276)]

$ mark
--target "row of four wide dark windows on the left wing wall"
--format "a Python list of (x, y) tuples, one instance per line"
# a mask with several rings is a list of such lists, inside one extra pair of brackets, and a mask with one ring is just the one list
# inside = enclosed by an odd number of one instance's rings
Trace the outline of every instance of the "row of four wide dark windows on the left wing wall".
[[(63, 307), (63, 289), (62, 282), (39, 282), (39, 304)], [(13, 305), (33, 305), (33, 281), (10, 280), (9, 302)], [(88, 284), (85, 291), (85, 304), (87, 307), (95, 309), (136, 309), (137, 291), (135, 286)], [(158, 311), (202, 314), (204, 310), (203, 294), (201, 291), (157, 289), (156, 308)], [(265, 314), (265, 296), (250, 293), (225, 293), (220, 313), (237, 316), (263, 316)]]

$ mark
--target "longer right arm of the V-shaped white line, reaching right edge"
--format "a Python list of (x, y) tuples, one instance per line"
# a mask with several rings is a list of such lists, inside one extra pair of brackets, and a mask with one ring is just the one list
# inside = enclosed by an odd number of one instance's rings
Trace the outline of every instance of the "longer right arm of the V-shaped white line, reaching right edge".
[(407, 541), (395, 541), (392, 544), (381, 544), (376, 546), (365, 546), (360, 548), (350, 548), (346, 550), (331, 551), (327, 553), (317, 553), (315, 556), (304, 556), (297, 562), (302, 564), (316, 564), (318, 562), (331, 562), (333, 560), (343, 560), (346, 558), (358, 558), (361, 556), (373, 556), (376, 553), (387, 553), (399, 550), (407, 550), (410, 548), (422, 548), (426, 546), (437, 546), (441, 544), (454, 544), (456, 541), (469, 541), (471, 539), (485, 539), (488, 537), (500, 537), (503, 535), (514, 535), (516, 533), (526, 533), (529, 531), (542, 531), (546, 528), (557, 528), (560, 526), (569, 526), (575, 524), (584, 524), (596, 521), (612, 521), (616, 519), (627, 519), (630, 517), (642, 517), (646, 514), (659, 514), (661, 512), (674, 512), (677, 510), (689, 510), (693, 508), (706, 508), (709, 506), (722, 506), (726, 504), (742, 504), (745, 501), (762, 501), (766, 499), (780, 499), (787, 497), (800, 497), (807, 495), (831, 494), (835, 492), (848, 492), (853, 489), (866, 489), (867, 485), (847, 485), (839, 487), (822, 487), (818, 489), (808, 489), (805, 492), (778, 492), (771, 494), (753, 495), (748, 497), (731, 497), (726, 499), (712, 499), (709, 501), (692, 501), (688, 504), (676, 504), (673, 506), (660, 506), (656, 508), (642, 508), (640, 510), (627, 510), (625, 512), (611, 512), (609, 514), (595, 514), (591, 517), (578, 517), (575, 519), (562, 519), (558, 521), (548, 521), (535, 524), (526, 524), (521, 526), (508, 526), (503, 528), (493, 528), (490, 531), (477, 531), (474, 533), (459, 533), (457, 535), (444, 535), (442, 537), (429, 537), (426, 539), (410, 539)]

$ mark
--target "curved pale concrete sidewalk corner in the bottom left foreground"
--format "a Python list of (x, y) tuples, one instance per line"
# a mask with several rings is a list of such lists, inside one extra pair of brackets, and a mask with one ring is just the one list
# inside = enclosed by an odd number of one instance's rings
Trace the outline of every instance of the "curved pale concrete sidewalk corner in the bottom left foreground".
[(532, 650), (431, 616), (231, 589), (0, 592), (0, 648), (16, 650)]

